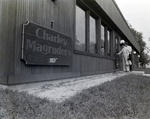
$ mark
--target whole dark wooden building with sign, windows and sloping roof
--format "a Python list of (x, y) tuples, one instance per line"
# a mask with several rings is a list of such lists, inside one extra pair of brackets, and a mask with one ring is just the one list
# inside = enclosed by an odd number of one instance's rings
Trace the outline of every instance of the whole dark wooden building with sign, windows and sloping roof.
[(0, 83), (121, 70), (122, 39), (139, 52), (114, 0), (0, 0)]

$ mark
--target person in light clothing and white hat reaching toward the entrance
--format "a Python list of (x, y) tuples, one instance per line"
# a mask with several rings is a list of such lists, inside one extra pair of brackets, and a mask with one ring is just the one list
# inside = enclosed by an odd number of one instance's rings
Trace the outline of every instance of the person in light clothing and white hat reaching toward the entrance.
[(124, 40), (120, 41), (120, 46), (122, 47), (122, 49), (119, 53), (117, 53), (117, 55), (122, 54), (123, 71), (129, 71), (129, 62), (128, 62), (129, 52), (128, 52), (128, 49), (125, 45)]

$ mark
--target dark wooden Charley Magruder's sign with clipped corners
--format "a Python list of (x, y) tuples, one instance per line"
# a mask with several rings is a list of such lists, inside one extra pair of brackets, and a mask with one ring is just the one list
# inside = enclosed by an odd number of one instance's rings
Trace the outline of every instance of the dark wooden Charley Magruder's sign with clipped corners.
[(71, 65), (72, 39), (32, 22), (23, 24), (22, 59), (27, 65)]

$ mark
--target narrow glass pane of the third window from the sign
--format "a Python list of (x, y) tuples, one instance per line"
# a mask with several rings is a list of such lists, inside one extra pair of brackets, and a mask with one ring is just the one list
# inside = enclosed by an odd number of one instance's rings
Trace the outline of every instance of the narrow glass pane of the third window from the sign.
[(105, 55), (105, 27), (101, 25), (101, 55)]

